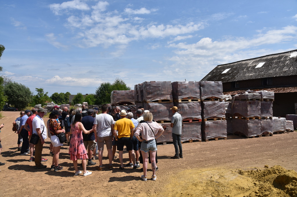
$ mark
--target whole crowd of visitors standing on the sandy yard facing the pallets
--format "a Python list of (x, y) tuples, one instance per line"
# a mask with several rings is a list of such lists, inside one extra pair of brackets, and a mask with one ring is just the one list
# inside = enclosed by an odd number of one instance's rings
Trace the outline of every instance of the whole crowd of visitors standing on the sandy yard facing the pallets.
[[(113, 169), (112, 162), (116, 158), (117, 149), (119, 151), (120, 170), (124, 170), (124, 167), (137, 169), (140, 167), (139, 163), (142, 163), (143, 175), (141, 179), (146, 181), (147, 165), (150, 162), (153, 171), (152, 180), (156, 180), (158, 169), (156, 139), (162, 135), (164, 128), (159, 123), (154, 122), (153, 115), (149, 110), (143, 108), (136, 111), (136, 119), (134, 119), (130, 108), (126, 111), (117, 106), (111, 110), (107, 104), (103, 104), (101, 110), (102, 113), (97, 115), (96, 111), (86, 109), (85, 105), (75, 110), (69, 110), (67, 107), (59, 109), (58, 106), (54, 106), (53, 111), (49, 114), (47, 126), (42, 119), (45, 113), (43, 108), (35, 106), (32, 110), (20, 112), (20, 117), (13, 122), (13, 125), (19, 125), (17, 133), (19, 134), (18, 149), (20, 154), (30, 154), (29, 161), (35, 162), (35, 169), (46, 168), (42, 164), (42, 162), (47, 161), (47, 159), (42, 158), (42, 148), (49, 135), (50, 154), (53, 155), (51, 169), (59, 171), (63, 169), (59, 165), (60, 148), (63, 146), (59, 137), (66, 134), (70, 160), (73, 161), (75, 169), (74, 175), (82, 173), (78, 169), (78, 159), (82, 160), (83, 176), (92, 174), (86, 170), (86, 166), (96, 164), (92, 161), (93, 155), (96, 155), (96, 149), (98, 149), (99, 160), (97, 169), (103, 170), (102, 156), (105, 144), (108, 151), (109, 170)], [(172, 107), (171, 110), (173, 117), (170, 126), (173, 127), (172, 137), (175, 147), (175, 155), (172, 158), (179, 159), (183, 158), (181, 146), (182, 119), (176, 106)], [(39, 137), (37, 143), (29, 143), (34, 134)], [(23, 141), (22, 146), (20, 146), (21, 139)], [(129, 152), (129, 163), (125, 166), (123, 163), (124, 146)]]

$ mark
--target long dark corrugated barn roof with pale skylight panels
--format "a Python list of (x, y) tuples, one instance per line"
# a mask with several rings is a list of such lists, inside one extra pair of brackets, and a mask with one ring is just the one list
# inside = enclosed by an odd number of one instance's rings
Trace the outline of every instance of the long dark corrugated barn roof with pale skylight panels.
[(297, 75), (297, 50), (218, 65), (201, 81), (232, 82)]

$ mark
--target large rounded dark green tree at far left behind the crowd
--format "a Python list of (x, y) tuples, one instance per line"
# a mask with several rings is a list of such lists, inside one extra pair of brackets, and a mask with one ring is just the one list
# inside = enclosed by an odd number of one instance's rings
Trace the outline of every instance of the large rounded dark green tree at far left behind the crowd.
[(7, 96), (7, 102), (18, 109), (24, 109), (32, 100), (30, 89), (20, 83), (10, 82), (4, 86), (4, 94)]

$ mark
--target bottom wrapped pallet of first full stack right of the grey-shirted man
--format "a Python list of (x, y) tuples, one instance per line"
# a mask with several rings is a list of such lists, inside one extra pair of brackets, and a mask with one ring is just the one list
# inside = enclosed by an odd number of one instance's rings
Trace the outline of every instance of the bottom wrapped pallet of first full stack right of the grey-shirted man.
[(213, 138), (227, 138), (227, 121), (205, 121), (202, 122), (201, 135), (204, 140)]

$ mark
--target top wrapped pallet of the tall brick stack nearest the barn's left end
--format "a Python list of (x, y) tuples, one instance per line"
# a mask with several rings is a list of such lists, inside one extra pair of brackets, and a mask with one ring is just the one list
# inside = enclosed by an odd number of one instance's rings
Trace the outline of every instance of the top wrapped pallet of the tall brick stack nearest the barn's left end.
[(200, 81), (201, 99), (217, 97), (223, 99), (222, 81)]

